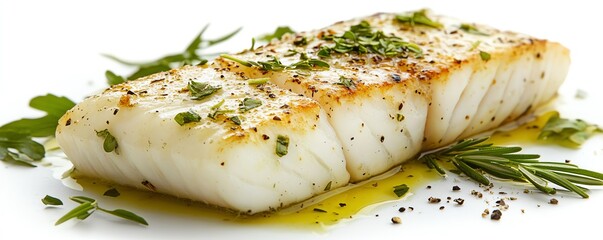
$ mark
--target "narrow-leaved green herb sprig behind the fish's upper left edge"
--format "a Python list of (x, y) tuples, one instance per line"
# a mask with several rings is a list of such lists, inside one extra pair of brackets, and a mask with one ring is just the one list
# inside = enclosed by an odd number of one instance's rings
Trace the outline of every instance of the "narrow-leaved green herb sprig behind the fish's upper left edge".
[[(127, 80), (138, 79), (154, 73), (167, 71), (174, 67), (179, 67), (182, 65), (204, 65), (208, 62), (208, 60), (206, 57), (200, 55), (200, 53), (198, 53), (199, 51), (205, 50), (206, 48), (209, 48), (213, 45), (224, 42), (236, 35), (241, 30), (241, 28), (238, 28), (235, 31), (217, 39), (206, 40), (203, 38), (203, 33), (205, 33), (205, 30), (207, 30), (208, 27), (209, 25), (205, 25), (205, 27), (203, 27), (201, 32), (197, 34), (193, 41), (186, 47), (184, 52), (179, 54), (167, 55), (154, 61), (145, 63), (135, 63), (119, 59), (112, 55), (103, 54), (103, 56), (123, 65), (137, 67), (137, 70), (126, 78), (107, 70), (105, 72), (105, 76), (107, 77), (107, 83), (109, 85), (114, 85)], [(215, 54), (209, 55), (211, 56)]]

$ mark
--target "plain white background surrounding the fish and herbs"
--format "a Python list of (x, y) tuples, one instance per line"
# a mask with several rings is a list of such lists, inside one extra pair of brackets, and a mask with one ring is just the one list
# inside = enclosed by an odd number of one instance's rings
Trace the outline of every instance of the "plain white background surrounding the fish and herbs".
[[(207, 23), (211, 24), (206, 32), (208, 37), (221, 36), (242, 26), (243, 31), (233, 40), (216, 49), (236, 52), (248, 48), (252, 37), (271, 32), (279, 25), (310, 30), (376, 12), (425, 7), (467, 22), (485, 23), (566, 45), (572, 51), (572, 66), (560, 91), (559, 109), (569, 116), (603, 125), (603, 8), (597, 5), (596, 1), (525, 0), (1, 1), (0, 125), (25, 116), (38, 116), (38, 112), (27, 107), (33, 96), (54, 93), (79, 101), (106, 86), (105, 70), (120, 74), (131, 71), (101, 57), (101, 53), (148, 60), (180, 52)], [(587, 99), (574, 99), (576, 89), (585, 90)], [(603, 171), (602, 143), (598, 136), (580, 151), (540, 150), (555, 160), (575, 157), (581, 166)], [(596, 238), (593, 234), (598, 234), (601, 226), (601, 190), (591, 192), (592, 197), (587, 200), (560, 196), (561, 204), (554, 207), (546, 204), (549, 196), (522, 196), (523, 201), (516, 204), (516, 209), (505, 213), (499, 222), (479, 216), (481, 210), (492, 203), (472, 200), (462, 208), (444, 212), (426, 206), (422, 211), (400, 215), (404, 221), (401, 225), (388, 224), (398, 206), (420, 206), (434, 191), (447, 193), (450, 184), (446, 183), (433, 183), (432, 192), (418, 190), (406, 202), (375, 210), (381, 214), (380, 218), (359, 219), (325, 233), (233, 227), (154, 211), (145, 214), (151, 223), (149, 227), (124, 224), (108, 217), (55, 227), (54, 221), (65, 209), (46, 209), (40, 198), (46, 194), (71, 196), (78, 192), (64, 187), (47, 168), (26, 169), (0, 163), (0, 239), (11, 236), (16, 239), (367, 239), (375, 236), (508, 239), (526, 234), (553, 238), (576, 234)], [(474, 187), (473, 183), (460, 184)], [(438, 186), (441, 188), (437, 189)], [(520, 214), (520, 207), (525, 207), (527, 212)]]

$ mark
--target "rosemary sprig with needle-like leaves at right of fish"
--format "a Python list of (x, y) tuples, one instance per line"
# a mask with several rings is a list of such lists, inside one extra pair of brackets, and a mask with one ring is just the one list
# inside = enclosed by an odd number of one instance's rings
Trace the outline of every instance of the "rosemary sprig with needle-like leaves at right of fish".
[(554, 194), (553, 183), (583, 198), (588, 198), (586, 189), (580, 185), (603, 185), (603, 173), (579, 168), (574, 164), (558, 162), (540, 162), (537, 154), (520, 154), (521, 147), (495, 146), (484, 143), (488, 137), (465, 139), (458, 143), (425, 154), (419, 160), (429, 168), (445, 175), (446, 171), (438, 161), (449, 161), (459, 171), (471, 179), (490, 185), (484, 173), (497, 178), (529, 182), (538, 190)]

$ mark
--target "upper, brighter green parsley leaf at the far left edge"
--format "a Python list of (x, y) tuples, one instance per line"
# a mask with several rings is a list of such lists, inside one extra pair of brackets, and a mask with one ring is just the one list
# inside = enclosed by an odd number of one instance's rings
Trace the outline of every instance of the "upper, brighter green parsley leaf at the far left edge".
[(20, 132), (32, 137), (54, 136), (57, 122), (65, 112), (75, 106), (75, 103), (66, 97), (57, 97), (53, 94), (37, 96), (29, 101), (29, 106), (46, 112), (41, 118), (24, 118), (13, 121), (0, 127), (0, 130)]

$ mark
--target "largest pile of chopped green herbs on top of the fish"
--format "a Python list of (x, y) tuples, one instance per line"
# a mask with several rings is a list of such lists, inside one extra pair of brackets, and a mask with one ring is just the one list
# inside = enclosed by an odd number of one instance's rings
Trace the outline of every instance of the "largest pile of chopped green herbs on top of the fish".
[(367, 21), (350, 27), (350, 30), (341, 36), (324, 36), (324, 40), (333, 41), (334, 46), (322, 46), (317, 55), (328, 58), (333, 53), (375, 53), (386, 57), (408, 57), (412, 52), (416, 57), (422, 56), (421, 48), (403, 41), (401, 38), (386, 35), (383, 31), (373, 32)]

